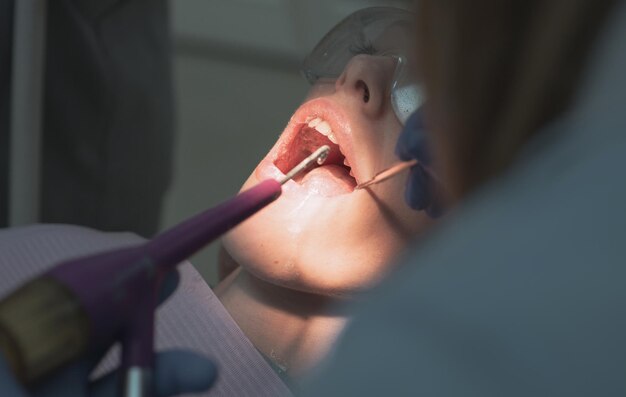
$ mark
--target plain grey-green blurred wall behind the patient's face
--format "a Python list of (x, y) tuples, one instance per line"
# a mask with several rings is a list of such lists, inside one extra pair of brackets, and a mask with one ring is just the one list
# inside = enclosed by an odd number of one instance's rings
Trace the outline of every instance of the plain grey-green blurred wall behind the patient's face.
[[(351, 12), (393, 0), (171, 0), (177, 133), (161, 228), (238, 191), (299, 106), (301, 60)], [(218, 245), (192, 259), (215, 284)]]

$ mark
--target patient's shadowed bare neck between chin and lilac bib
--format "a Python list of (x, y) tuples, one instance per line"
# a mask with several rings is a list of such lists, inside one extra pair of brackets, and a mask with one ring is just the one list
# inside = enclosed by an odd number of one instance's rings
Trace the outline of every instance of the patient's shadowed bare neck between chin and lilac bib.
[(294, 379), (326, 355), (348, 319), (338, 299), (279, 287), (241, 268), (215, 292), (254, 346)]

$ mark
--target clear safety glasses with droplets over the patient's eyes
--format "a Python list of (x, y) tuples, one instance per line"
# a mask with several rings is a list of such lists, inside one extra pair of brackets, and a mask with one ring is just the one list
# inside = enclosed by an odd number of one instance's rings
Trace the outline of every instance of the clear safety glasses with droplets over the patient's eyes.
[(337, 79), (350, 60), (360, 54), (396, 60), (391, 104), (400, 122), (422, 104), (420, 86), (413, 78), (414, 16), (392, 7), (371, 7), (349, 15), (322, 38), (305, 58), (302, 74), (311, 85), (320, 78)]

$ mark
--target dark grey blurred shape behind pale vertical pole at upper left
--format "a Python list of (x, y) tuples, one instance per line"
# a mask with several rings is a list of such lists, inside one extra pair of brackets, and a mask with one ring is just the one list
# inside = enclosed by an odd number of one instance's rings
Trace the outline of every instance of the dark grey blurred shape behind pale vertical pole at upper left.
[[(168, 3), (48, 2), (40, 221), (152, 236), (174, 130)], [(14, 2), (0, 0), (0, 226)]]

